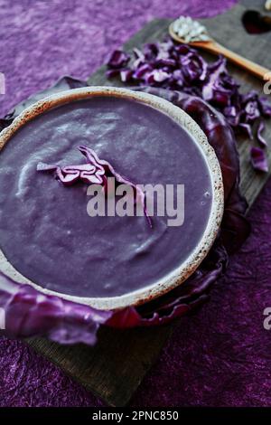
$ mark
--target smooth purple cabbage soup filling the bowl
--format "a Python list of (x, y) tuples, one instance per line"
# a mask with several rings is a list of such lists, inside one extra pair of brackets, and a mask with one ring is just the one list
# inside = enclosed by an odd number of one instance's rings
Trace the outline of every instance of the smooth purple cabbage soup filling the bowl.
[[(152, 227), (144, 215), (89, 217), (88, 184), (66, 186), (37, 171), (40, 162), (85, 164), (78, 146), (135, 184), (184, 184), (182, 226), (157, 214)], [(40, 287), (71, 296), (120, 296), (164, 278), (201, 240), (211, 203), (201, 148), (172, 118), (135, 100), (100, 96), (51, 109), (15, 132), (0, 155), (6, 259)]]

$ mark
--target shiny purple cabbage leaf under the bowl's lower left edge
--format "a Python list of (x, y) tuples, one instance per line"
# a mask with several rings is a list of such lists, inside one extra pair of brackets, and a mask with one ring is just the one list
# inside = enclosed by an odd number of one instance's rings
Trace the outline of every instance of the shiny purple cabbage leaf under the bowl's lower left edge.
[(0, 272), (0, 306), (5, 310), (5, 333), (12, 337), (43, 335), (61, 344), (94, 345), (98, 326), (108, 311), (44, 295), (30, 285), (15, 283)]

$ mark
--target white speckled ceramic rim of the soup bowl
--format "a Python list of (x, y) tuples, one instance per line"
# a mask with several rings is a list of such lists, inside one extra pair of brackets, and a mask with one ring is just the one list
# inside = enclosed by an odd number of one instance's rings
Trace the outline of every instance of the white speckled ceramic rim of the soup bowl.
[(159, 279), (145, 288), (140, 288), (122, 296), (75, 297), (42, 288), (31, 280), (23, 277), (21, 273), (14, 269), (12, 264), (5, 258), (3, 251), (0, 250), (0, 269), (15, 281), (19, 283), (28, 283), (33, 288), (38, 289), (44, 294), (62, 297), (76, 303), (89, 305), (102, 310), (111, 310), (144, 304), (145, 302), (150, 301), (155, 297), (160, 297), (164, 293), (182, 284), (182, 282), (192, 275), (193, 271), (200, 266), (201, 261), (206, 257), (220, 229), (224, 206), (224, 190), (219, 161), (213, 148), (208, 143), (207, 137), (201, 130), (201, 127), (199, 127), (198, 124), (188, 114), (186, 114), (186, 112), (174, 106), (167, 100), (148, 93), (122, 88), (98, 86), (65, 90), (51, 95), (48, 98), (39, 100), (31, 107), (24, 109), (20, 116), (15, 118), (13, 123), (0, 133), (0, 151), (5, 146), (5, 143), (13, 137), (14, 132), (18, 128), (22, 127), (29, 120), (42, 114), (42, 112), (73, 100), (89, 99), (95, 96), (114, 96), (117, 98), (132, 99), (142, 102), (145, 105), (149, 105), (154, 109), (163, 112), (170, 118), (173, 118), (175, 122), (184, 127), (192, 135), (198, 146), (200, 146), (201, 152), (209, 167), (212, 185), (212, 204), (209, 221), (201, 240), (194, 250), (192, 250), (189, 257), (184, 260), (178, 268), (173, 269), (170, 273), (164, 276), (163, 279)]

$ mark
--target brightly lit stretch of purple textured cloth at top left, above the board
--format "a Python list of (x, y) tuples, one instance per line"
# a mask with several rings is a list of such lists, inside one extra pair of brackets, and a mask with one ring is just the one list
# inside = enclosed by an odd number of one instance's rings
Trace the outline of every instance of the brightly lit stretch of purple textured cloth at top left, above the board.
[[(0, 116), (62, 75), (84, 80), (155, 17), (213, 16), (237, 0), (0, 0)], [(1, 99), (2, 100), (2, 99)]]

